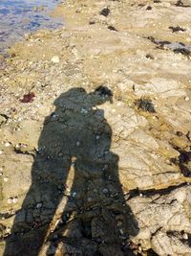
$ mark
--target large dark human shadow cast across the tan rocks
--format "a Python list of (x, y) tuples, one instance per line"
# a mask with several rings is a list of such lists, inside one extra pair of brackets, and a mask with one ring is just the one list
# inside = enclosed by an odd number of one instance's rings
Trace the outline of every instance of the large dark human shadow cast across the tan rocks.
[(45, 119), (32, 165), (32, 185), (16, 213), (4, 256), (131, 255), (138, 222), (110, 151), (112, 129), (96, 105), (112, 91), (72, 88)]

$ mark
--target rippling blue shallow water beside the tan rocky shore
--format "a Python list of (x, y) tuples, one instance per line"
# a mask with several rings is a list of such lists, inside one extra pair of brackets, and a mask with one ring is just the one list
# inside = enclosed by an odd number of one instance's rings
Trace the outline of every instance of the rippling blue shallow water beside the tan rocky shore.
[(62, 26), (49, 15), (57, 0), (0, 0), (0, 53), (27, 32)]

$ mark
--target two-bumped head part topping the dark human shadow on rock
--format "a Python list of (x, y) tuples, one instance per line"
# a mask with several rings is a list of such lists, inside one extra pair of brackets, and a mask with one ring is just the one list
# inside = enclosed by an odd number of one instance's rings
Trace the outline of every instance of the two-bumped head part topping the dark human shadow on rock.
[(113, 103), (113, 92), (106, 86), (98, 86), (95, 91), (87, 93), (82, 87), (75, 87), (62, 93), (54, 102), (57, 107), (75, 107), (83, 105), (93, 107), (106, 102)]

